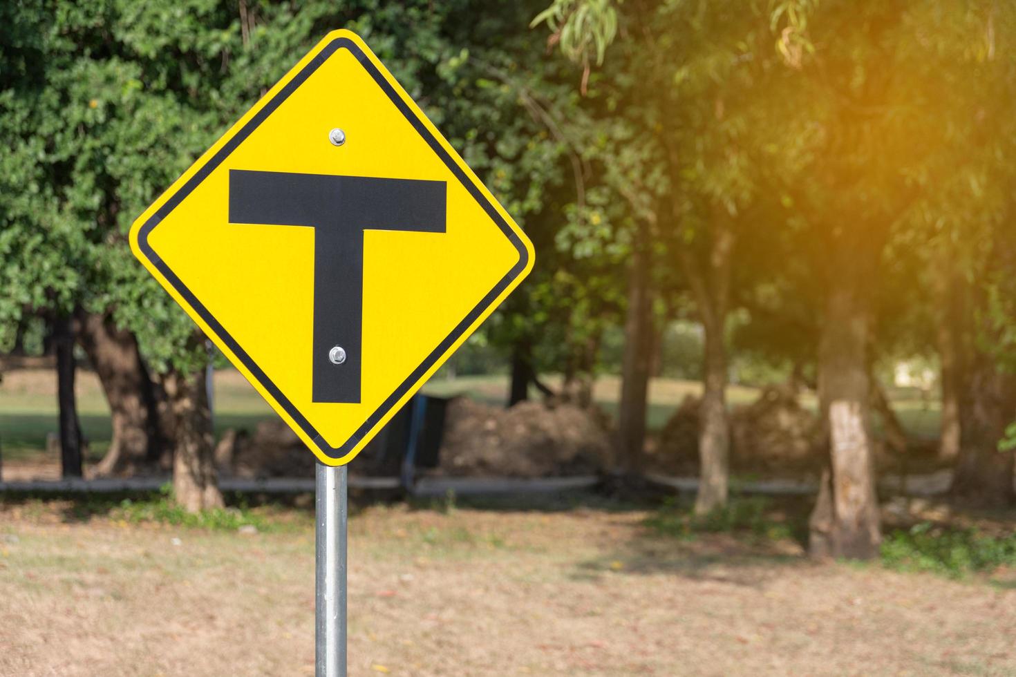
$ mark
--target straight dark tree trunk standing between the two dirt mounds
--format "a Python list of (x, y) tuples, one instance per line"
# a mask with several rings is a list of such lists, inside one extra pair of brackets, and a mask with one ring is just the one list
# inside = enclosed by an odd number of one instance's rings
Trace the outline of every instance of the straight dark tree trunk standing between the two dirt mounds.
[(645, 416), (652, 351), (652, 270), (649, 225), (640, 221), (635, 231), (628, 278), (625, 349), (621, 365), (618, 411), (618, 469), (626, 475), (642, 472)]

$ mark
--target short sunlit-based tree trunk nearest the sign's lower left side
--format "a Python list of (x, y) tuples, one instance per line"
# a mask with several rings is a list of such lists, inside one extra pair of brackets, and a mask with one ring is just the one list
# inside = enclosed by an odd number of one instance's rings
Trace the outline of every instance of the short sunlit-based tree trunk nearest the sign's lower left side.
[(173, 491), (189, 513), (223, 506), (215, 474), (214, 435), (204, 370), (164, 379), (175, 421)]

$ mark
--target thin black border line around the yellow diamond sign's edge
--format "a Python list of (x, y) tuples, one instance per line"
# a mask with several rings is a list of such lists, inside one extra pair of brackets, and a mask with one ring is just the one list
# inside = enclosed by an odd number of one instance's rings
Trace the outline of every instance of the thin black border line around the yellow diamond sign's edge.
[[(310, 421), (300, 413), (296, 406), (290, 402), (289, 398), (282, 394), (282, 391), (272, 383), (271, 379), (257, 365), (257, 363), (247, 354), (247, 352), (240, 346), (240, 344), (230, 335), (226, 328), (208, 312), (208, 310), (197, 299), (197, 296), (183, 281), (177, 277), (177, 275), (170, 269), (169, 266), (155, 254), (151, 245), (148, 243), (148, 236), (151, 234), (152, 230), (165, 219), (170, 213), (179, 205), (188, 195), (197, 188), (201, 182), (203, 182), (208, 175), (210, 175), (221, 162), (230, 156), (230, 154), (236, 150), (236, 148), (255, 130), (257, 127), (264, 122), (268, 116), (270, 116), (281, 104), (284, 101), (290, 94), (297, 90), (297, 88), (303, 84), (308, 77), (310, 77), (314, 71), (316, 71), (321, 64), (323, 64), (332, 54), (340, 49), (346, 49), (353, 56), (357, 58), (360, 64), (370, 73), (374, 81), (377, 82), (378, 86), (388, 95), (395, 108), (399, 110), (403, 117), (414, 126), (417, 132), (427, 141), (431, 149), (437, 153), (438, 157), (445, 163), (445, 165), (451, 171), (456, 179), (465, 187), (469, 194), (477, 200), (477, 202), (484, 208), (484, 211), (494, 220), (494, 222), (501, 228), (501, 231), (508, 238), (509, 242), (518, 251), (519, 259), (518, 262), (512, 266), (511, 270), (498, 281), (494, 288), (491, 289), (487, 294), (480, 300), (479, 303), (469, 312), (465, 318), (462, 319), (458, 325), (452, 330), (452, 332), (440, 343), (438, 346), (427, 356), (426, 359), (416, 368), (412, 373), (401, 383), (398, 388), (388, 396), (384, 402), (372, 413), (367, 420), (357, 428), (348, 439), (346, 439), (339, 447), (331, 447), (328, 443), (324, 441), (324, 437), (311, 425)], [(200, 170), (198, 170), (194, 176), (192, 176), (186, 184), (176, 193), (174, 193), (166, 202), (160, 206), (158, 210), (144, 224), (138, 229), (137, 243), (141, 252), (147, 257), (151, 264), (163, 274), (163, 276), (173, 285), (181, 296), (187, 301), (187, 303), (201, 317), (201, 319), (211, 328), (211, 330), (217, 335), (217, 337), (230, 348), (234, 355), (243, 362), (250, 373), (257, 379), (258, 383), (271, 395), (272, 398), (285, 410), (285, 412), (292, 417), (292, 419), (300, 426), (300, 428), (314, 442), (322, 454), (327, 456), (332, 460), (338, 460), (342, 457), (347, 456), (353, 449), (357, 447), (367, 434), (378, 424), (378, 422), (387, 414), (398, 401), (414, 388), (422, 385), (420, 382), (423, 380), (424, 375), (430, 369), (435, 362), (437, 362), (441, 357), (443, 357), (449, 350), (451, 346), (457, 341), (466, 330), (480, 318), (494, 302), (497, 300), (505, 289), (507, 289), (512, 282), (514, 282), (519, 275), (526, 269), (529, 263), (529, 252), (522, 242), (522, 239), (511, 228), (507, 221), (501, 216), (494, 204), (483, 194), (480, 188), (475, 185), (473, 181), (469, 179), (466, 173), (458, 165), (458, 163), (452, 158), (452, 156), (445, 150), (444, 146), (437, 140), (433, 133), (427, 128), (423, 120), (414, 113), (409, 106), (402, 99), (399, 93), (395, 90), (390, 82), (384, 77), (374, 62), (360, 49), (353, 40), (348, 38), (336, 38), (328, 43), (314, 58), (304, 66), (299, 73), (297, 73), (285, 85), (268, 100), (258, 112), (251, 118), (247, 124), (243, 126), (236, 134), (234, 134), (226, 144), (215, 152), (211, 158), (205, 162)]]

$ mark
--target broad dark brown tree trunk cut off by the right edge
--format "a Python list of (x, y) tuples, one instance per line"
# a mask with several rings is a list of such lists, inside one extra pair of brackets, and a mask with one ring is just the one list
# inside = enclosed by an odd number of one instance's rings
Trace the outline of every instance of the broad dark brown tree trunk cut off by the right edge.
[(1000, 452), (1006, 427), (1016, 419), (1016, 379), (978, 354), (960, 400), (962, 439), (951, 493), (967, 504), (1013, 502), (1013, 452)]

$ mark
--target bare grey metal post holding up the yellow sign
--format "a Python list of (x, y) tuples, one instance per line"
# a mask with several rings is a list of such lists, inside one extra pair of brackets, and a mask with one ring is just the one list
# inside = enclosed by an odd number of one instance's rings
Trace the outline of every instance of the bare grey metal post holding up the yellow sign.
[(315, 674), (345, 677), (346, 466), (317, 464)]

